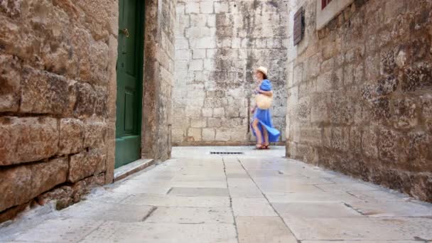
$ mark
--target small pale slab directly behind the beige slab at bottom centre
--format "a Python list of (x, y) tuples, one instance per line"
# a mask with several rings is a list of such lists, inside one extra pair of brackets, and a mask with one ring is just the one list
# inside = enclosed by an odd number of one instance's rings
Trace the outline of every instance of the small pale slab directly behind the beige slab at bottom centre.
[(235, 216), (277, 216), (264, 198), (232, 198)]

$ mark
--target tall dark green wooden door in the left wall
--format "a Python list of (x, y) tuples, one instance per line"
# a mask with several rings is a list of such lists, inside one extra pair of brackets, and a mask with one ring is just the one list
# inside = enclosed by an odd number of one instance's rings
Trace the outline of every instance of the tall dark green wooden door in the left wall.
[(140, 0), (119, 1), (116, 168), (141, 157), (143, 8)]

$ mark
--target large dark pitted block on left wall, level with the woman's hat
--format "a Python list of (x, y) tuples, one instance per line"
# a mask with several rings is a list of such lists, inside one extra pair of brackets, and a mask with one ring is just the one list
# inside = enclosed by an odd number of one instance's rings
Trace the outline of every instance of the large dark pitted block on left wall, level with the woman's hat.
[(70, 114), (74, 103), (73, 82), (50, 72), (23, 70), (21, 112)]

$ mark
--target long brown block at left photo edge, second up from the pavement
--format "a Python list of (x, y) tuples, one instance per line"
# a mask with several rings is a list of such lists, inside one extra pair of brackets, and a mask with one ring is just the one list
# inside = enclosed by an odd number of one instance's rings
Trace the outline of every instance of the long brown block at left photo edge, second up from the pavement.
[(1, 117), (0, 166), (38, 161), (58, 151), (57, 119)]

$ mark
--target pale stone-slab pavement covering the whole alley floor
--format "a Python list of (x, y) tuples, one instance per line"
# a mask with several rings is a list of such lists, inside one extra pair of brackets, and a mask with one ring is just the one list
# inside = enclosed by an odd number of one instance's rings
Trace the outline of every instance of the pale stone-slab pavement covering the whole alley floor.
[(3, 225), (0, 242), (431, 242), (432, 205), (284, 153), (174, 148), (85, 201)]

